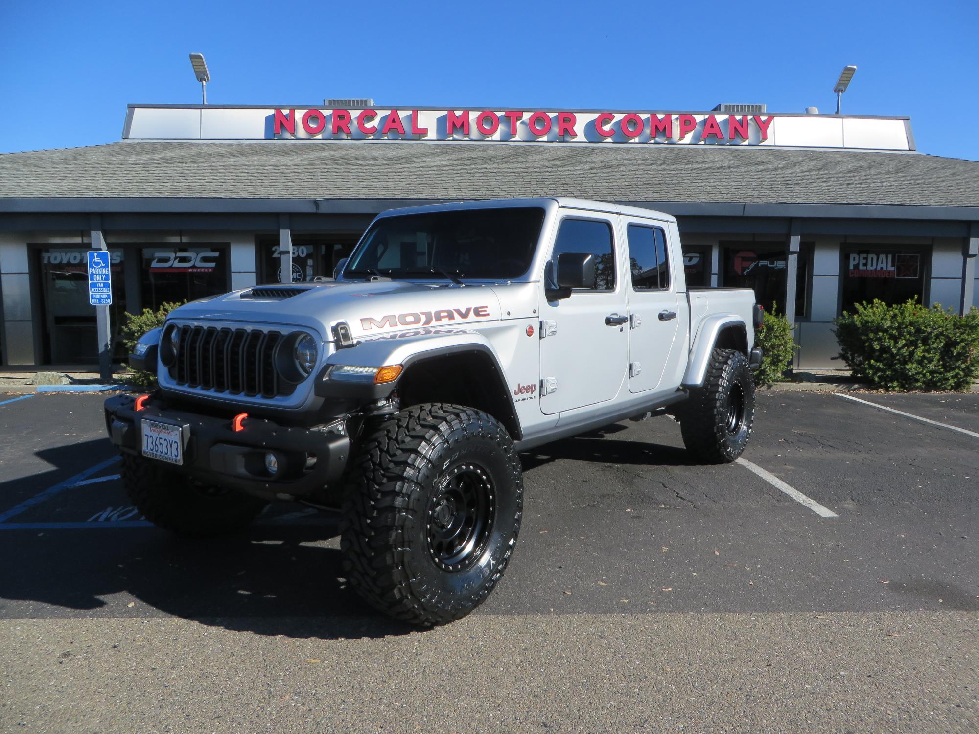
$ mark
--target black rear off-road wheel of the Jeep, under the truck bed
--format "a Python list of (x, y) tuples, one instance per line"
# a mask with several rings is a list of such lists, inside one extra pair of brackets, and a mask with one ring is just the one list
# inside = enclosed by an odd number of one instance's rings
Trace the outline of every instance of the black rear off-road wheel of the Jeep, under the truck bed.
[(741, 455), (755, 418), (755, 378), (748, 358), (715, 349), (701, 388), (691, 390), (679, 418), (683, 445), (707, 464), (727, 464)]

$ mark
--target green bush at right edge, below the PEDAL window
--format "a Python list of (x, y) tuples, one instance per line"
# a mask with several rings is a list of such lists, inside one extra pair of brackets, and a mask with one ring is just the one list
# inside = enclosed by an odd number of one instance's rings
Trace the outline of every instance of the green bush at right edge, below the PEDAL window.
[(979, 310), (965, 316), (912, 298), (858, 303), (835, 321), (840, 357), (877, 390), (969, 390), (979, 377)]

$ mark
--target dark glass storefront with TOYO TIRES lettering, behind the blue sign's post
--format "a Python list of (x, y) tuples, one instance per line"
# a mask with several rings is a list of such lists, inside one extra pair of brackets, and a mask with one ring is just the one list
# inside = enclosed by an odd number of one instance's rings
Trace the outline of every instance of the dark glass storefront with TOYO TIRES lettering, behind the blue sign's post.
[[(88, 302), (88, 248), (48, 248), (38, 252), (44, 312), (44, 361), (94, 364), (99, 361), (95, 306)], [(113, 304), (110, 306), (113, 356), (125, 356), (119, 329), (125, 318), (124, 254), (110, 250)]]

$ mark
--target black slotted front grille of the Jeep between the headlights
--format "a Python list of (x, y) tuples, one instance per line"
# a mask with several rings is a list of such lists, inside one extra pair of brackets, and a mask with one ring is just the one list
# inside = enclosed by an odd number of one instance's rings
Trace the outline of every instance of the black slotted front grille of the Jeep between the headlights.
[(275, 369), (279, 332), (179, 326), (177, 359), (169, 368), (177, 385), (249, 397), (290, 395), (296, 386)]

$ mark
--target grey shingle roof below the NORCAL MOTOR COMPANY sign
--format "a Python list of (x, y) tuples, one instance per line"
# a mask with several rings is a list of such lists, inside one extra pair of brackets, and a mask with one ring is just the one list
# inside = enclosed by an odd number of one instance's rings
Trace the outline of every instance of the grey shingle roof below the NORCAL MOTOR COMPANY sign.
[(979, 206), (979, 162), (721, 146), (120, 142), (0, 156), (0, 198), (486, 199)]

